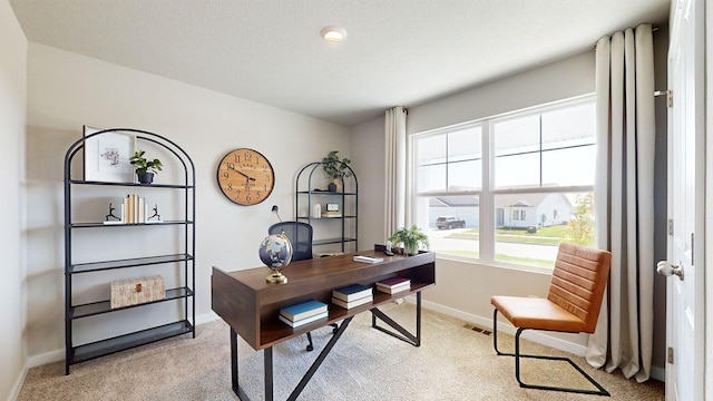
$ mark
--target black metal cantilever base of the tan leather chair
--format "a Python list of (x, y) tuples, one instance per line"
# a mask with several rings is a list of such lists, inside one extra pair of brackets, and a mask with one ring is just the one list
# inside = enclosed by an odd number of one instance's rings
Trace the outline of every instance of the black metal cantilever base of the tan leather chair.
[[(495, 352), (498, 354), (498, 356), (515, 356), (515, 378), (517, 379), (517, 382), (520, 384), (521, 388), (535, 389), (535, 390), (563, 391), (563, 392), (578, 393), (578, 394), (593, 394), (593, 395), (605, 395), (605, 397), (612, 395), (599, 383), (597, 383), (590, 375), (588, 375), (584, 370), (582, 370), (582, 368), (577, 366), (577, 364), (574, 363), (569, 358), (520, 354), (520, 334), (522, 334), (525, 330), (528, 330), (528, 327), (518, 327), (517, 332), (515, 333), (515, 353), (500, 352), (500, 350), (498, 350), (498, 309), (497, 307), (495, 309), (495, 312), (492, 313), (492, 346), (495, 348)], [(540, 330), (540, 329), (530, 329), (530, 330)], [(569, 332), (564, 332), (558, 330), (543, 330), (543, 331), (569, 333)], [(579, 372), (579, 374), (582, 374), (585, 379), (587, 379), (589, 383), (592, 383), (592, 385), (596, 387), (598, 391), (524, 383), (522, 380), (520, 380), (520, 358), (569, 362), (569, 364), (574, 369), (576, 369), (577, 372)]]

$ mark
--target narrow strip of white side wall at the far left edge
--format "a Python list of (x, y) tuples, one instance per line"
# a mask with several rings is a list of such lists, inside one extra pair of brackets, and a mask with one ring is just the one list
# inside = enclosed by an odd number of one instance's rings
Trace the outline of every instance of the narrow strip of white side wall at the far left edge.
[(0, 159), (3, 162), (0, 211), (2, 244), (2, 335), (0, 335), (0, 399), (14, 399), (25, 376), (25, 266), (21, 239), (25, 182), (25, 115), (27, 39), (7, 1), (0, 1)]

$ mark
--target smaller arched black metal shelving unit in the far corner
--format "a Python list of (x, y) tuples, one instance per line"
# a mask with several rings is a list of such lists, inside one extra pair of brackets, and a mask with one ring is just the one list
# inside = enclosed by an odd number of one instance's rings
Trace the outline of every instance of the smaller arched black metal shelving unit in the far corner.
[[(335, 163), (342, 164), (344, 168), (351, 173), (351, 177), (340, 178), (341, 190), (338, 192), (320, 190), (316, 188), (318, 183), (322, 185), (324, 182), (323, 178), (318, 178), (322, 176), (322, 162), (310, 163), (297, 173), (295, 183), (295, 219), (312, 225), (316, 238), (312, 242), (313, 246), (339, 245), (341, 252), (356, 252), (359, 251), (359, 180), (356, 179), (356, 174), (354, 174), (354, 170), (349, 167), (349, 165), (342, 162)], [(312, 212), (315, 204), (319, 203), (324, 207), (325, 203), (334, 200), (338, 202), (342, 208), (341, 217), (316, 218), (313, 216)], [(322, 211), (325, 212), (324, 208)], [(324, 238), (319, 235), (320, 228), (326, 228), (325, 225), (335, 224), (335, 222), (340, 224), (340, 236)], [(350, 245), (353, 245), (353, 247), (348, 250)]]

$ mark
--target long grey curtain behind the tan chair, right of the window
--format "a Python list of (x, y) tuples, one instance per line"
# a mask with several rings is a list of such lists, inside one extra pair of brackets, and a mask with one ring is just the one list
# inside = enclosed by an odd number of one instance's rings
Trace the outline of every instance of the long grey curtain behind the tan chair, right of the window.
[(612, 252), (587, 362), (651, 375), (654, 292), (654, 56), (651, 25), (604, 37), (596, 47), (596, 246)]

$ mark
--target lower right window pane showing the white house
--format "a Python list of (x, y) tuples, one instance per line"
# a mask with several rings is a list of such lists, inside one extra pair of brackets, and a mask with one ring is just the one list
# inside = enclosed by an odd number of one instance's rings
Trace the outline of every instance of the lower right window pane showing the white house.
[(594, 244), (594, 194), (495, 196), (495, 260), (554, 267), (559, 243)]

